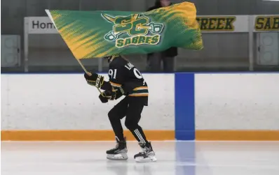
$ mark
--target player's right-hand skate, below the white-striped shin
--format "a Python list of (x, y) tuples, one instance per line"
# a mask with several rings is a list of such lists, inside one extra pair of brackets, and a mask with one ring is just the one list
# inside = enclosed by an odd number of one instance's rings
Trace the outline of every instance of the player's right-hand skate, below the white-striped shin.
[(142, 148), (142, 152), (137, 153), (134, 158), (136, 162), (155, 162), (157, 159), (155, 158), (155, 153), (152, 149), (151, 143), (147, 142), (144, 144), (142, 142), (139, 143)]

